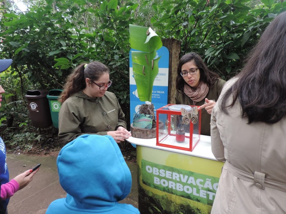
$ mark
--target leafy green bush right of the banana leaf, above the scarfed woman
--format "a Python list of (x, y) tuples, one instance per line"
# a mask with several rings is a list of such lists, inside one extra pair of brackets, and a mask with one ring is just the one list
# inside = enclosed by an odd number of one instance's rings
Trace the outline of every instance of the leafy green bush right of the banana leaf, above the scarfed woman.
[(268, 23), (286, 9), (286, 2), (262, 0), (254, 9), (248, 0), (168, 1), (154, 4), (151, 19), (158, 35), (182, 41), (182, 54), (195, 51), (212, 70), (229, 79), (243, 66)]

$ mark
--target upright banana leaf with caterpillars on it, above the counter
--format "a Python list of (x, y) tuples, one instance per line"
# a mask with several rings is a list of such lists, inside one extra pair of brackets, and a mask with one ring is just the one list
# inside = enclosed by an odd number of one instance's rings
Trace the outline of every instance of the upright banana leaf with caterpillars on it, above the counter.
[(141, 101), (152, 99), (154, 80), (159, 72), (159, 59), (155, 59), (156, 51), (162, 47), (160, 37), (149, 27), (129, 25), (130, 46), (138, 51), (132, 51), (132, 67)]

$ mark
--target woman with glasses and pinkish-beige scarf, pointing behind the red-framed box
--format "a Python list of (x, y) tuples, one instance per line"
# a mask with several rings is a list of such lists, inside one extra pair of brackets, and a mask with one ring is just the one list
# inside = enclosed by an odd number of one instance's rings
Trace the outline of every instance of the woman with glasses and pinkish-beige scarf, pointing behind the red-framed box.
[(210, 136), (210, 114), (225, 81), (211, 72), (200, 55), (194, 52), (180, 58), (177, 73), (176, 104), (200, 106), (200, 134)]

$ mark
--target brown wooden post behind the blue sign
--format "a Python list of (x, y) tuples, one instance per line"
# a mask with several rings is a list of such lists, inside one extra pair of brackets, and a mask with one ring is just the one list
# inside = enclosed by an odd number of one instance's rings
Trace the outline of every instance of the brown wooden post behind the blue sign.
[(176, 77), (181, 52), (181, 41), (162, 39), (162, 43), (169, 50), (168, 104), (175, 104)]

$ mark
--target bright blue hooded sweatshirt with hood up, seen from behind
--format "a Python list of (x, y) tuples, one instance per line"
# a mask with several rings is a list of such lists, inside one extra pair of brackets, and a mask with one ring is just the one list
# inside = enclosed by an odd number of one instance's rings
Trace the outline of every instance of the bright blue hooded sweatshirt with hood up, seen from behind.
[(131, 190), (130, 170), (111, 136), (79, 136), (57, 157), (59, 182), (66, 198), (53, 201), (46, 214), (134, 214), (132, 205), (118, 203)]

